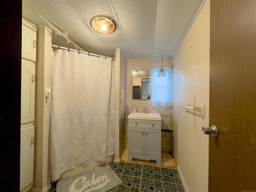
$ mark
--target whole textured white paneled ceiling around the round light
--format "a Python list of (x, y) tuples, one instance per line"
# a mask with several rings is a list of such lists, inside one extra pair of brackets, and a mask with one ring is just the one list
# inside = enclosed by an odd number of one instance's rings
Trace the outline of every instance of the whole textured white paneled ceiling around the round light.
[[(121, 49), (126, 59), (172, 57), (203, 0), (23, 0), (22, 15), (43, 24), (40, 14), (88, 52), (113, 57)], [(31, 11), (32, 10), (32, 11)], [(95, 16), (116, 23), (111, 34), (90, 26)], [(52, 35), (53, 44), (70, 47)], [(72, 47), (70, 47), (72, 48)]]

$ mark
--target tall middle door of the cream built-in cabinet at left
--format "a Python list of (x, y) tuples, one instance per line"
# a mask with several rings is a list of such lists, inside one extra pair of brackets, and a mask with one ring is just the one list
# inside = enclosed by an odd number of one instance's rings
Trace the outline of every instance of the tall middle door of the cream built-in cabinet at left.
[(22, 59), (21, 62), (21, 123), (34, 121), (35, 72), (34, 62)]

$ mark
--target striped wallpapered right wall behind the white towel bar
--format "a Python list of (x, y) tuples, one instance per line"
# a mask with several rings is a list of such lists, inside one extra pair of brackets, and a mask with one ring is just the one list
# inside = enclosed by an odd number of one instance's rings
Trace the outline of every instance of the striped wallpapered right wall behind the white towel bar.
[[(178, 151), (174, 158), (186, 191), (208, 191), (208, 142), (202, 126), (209, 126), (210, 0), (206, 0), (172, 58), (174, 74), (173, 129)], [(205, 116), (180, 108), (204, 104)]]

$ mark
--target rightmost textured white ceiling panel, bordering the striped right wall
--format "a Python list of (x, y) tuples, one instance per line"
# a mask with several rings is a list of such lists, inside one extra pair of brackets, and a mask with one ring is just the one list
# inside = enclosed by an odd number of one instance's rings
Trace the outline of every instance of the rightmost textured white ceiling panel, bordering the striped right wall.
[[(168, 50), (164, 57), (174, 54), (201, 2), (201, 0), (158, 0), (154, 56), (165, 52), (164, 50)], [(163, 37), (168, 37), (168, 39)]]

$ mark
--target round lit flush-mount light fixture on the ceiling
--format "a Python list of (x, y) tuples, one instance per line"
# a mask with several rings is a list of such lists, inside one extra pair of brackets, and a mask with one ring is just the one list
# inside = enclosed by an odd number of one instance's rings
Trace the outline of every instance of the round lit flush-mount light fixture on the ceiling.
[(114, 21), (102, 16), (93, 18), (91, 20), (91, 26), (94, 30), (102, 34), (110, 34), (116, 28)]

